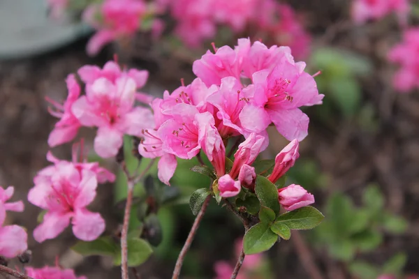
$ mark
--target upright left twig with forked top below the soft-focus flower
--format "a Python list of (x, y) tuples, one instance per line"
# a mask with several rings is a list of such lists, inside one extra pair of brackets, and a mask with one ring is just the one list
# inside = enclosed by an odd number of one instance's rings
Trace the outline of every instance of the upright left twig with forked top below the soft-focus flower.
[(129, 279), (129, 271), (128, 271), (128, 243), (127, 243), (127, 235), (128, 235), (128, 227), (129, 227), (129, 216), (131, 215), (131, 204), (133, 202), (133, 192), (134, 186), (138, 183), (144, 176), (147, 174), (149, 169), (154, 164), (154, 159), (150, 161), (149, 165), (142, 171), (140, 175), (137, 177), (131, 177), (125, 163), (122, 163), (122, 169), (126, 175), (126, 183), (128, 186), (128, 193), (126, 194), (126, 204), (125, 204), (125, 212), (124, 212), (124, 225), (122, 225), (122, 232), (121, 232), (121, 273), (122, 279)]

